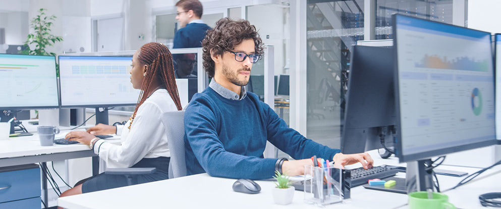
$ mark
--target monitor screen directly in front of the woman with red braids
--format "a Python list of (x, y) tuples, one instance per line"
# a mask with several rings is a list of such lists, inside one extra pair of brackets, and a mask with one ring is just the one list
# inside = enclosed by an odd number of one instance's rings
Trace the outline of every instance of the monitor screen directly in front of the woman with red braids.
[(61, 106), (135, 105), (140, 90), (132, 88), (132, 57), (59, 56)]

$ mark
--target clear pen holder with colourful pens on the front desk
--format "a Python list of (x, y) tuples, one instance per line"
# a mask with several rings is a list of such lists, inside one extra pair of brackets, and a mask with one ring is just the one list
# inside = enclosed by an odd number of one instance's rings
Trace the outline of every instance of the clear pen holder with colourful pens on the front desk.
[(326, 205), (343, 201), (342, 170), (304, 166), (304, 201)]

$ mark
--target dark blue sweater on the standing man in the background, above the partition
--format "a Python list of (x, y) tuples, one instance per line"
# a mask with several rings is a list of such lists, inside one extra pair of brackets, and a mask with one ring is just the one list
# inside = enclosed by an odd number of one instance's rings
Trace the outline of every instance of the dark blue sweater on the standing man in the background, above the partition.
[(211, 29), (203, 23), (186, 24), (174, 35), (173, 48), (196, 48), (202, 47), (202, 40), (205, 38), (207, 30)]

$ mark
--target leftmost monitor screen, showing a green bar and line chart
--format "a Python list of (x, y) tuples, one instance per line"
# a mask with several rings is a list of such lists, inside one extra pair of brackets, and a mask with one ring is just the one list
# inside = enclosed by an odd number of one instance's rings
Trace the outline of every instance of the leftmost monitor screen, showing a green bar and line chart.
[(0, 109), (58, 108), (53, 56), (0, 54)]

